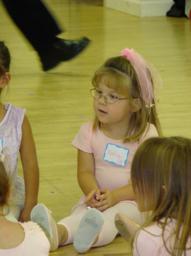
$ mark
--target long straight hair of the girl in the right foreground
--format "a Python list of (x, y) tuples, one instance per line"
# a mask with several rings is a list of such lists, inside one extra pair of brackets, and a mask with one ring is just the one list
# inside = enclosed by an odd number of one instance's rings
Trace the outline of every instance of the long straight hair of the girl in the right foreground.
[[(131, 181), (139, 210), (151, 211), (139, 230), (158, 222), (168, 253), (186, 254), (186, 250), (191, 249), (186, 248), (191, 236), (191, 140), (182, 137), (147, 139), (134, 155)], [(164, 240), (169, 218), (176, 219), (172, 248), (168, 248)]]

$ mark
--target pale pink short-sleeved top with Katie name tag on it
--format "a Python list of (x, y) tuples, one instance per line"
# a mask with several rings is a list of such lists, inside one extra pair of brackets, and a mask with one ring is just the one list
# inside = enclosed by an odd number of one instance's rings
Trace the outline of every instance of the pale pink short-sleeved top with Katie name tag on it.
[[(158, 137), (154, 125), (150, 125), (145, 138), (138, 143), (111, 139), (105, 136), (97, 127), (92, 131), (92, 122), (84, 123), (74, 141), (73, 146), (79, 150), (94, 154), (95, 177), (99, 188), (107, 188), (113, 191), (128, 184), (130, 178), (131, 162), (139, 145), (150, 137)], [(144, 135), (143, 135), (144, 137)], [(84, 195), (78, 202), (82, 204)]]

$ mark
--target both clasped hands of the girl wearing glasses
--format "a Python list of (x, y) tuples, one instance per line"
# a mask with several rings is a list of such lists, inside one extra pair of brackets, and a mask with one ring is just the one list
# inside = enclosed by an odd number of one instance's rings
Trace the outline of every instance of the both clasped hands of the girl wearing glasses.
[(104, 212), (104, 210), (116, 204), (116, 197), (114, 191), (109, 189), (94, 189), (88, 193), (84, 203), (87, 207), (96, 208), (100, 212)]

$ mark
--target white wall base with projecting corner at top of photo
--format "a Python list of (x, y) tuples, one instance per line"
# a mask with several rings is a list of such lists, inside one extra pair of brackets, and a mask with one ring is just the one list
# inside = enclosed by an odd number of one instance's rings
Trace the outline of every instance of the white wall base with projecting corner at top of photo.
[(172, 0), (104, 0), (104, 6), (131, 15), (165, 16), (173, 5)]

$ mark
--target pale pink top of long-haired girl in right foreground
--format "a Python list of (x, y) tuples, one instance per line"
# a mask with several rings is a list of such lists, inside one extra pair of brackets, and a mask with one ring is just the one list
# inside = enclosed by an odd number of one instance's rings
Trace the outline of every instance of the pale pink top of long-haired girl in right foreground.
[[(170, 245), (173, 246), (175, 241), (176, 220), (168, 222), (168, 225), (165, 226), (164, 230), (164, 240), (168, 248)], [(171, 236), (172, 234), (172, 236)], [(170, 238), (169, 238), (170, 237)], [(189, 237), (188, 248), (191, 246), (191, 238)], [(162, 237), (162, 228), (154, 222), (152, 225), (147, 226), (144, 230), (141, 230), (134, 241), (134, 252), (133, 256), (169, 256), (171, 254), (165, 249), (163, 237)], [(184, 253), (182, 253), (182, 256)], [(186, 251), (186, 255), (191, 255), (191, 249)]]

